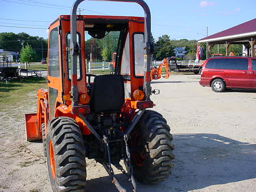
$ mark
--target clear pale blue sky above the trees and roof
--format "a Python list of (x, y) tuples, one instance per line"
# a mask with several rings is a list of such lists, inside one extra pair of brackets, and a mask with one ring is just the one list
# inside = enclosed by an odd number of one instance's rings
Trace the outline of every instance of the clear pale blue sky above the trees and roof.
[[(208, 35), (211, 35), (256, 18), (254, 14), (256, 0), (145, 1), (151, 10), (152, 32), (155, 38), (167, 34), (177, 40), (182, 38), (198, 40), (206, 35), (206, 26), (208, 26)], [(73, 2), (74, 0), (0, 0), (0, 32), (26, 32), (32, 36), (48, 38), (46, 29), (4, 26), (47, 28), (48, 24), (59, 15), (70, 14), (68, 7), (71, 7)], [(98, 12), (118, 16), (144, 16), (142, 8), (134, 3), (85, 1), (79, 7), (85, 9), (82, 14)]]

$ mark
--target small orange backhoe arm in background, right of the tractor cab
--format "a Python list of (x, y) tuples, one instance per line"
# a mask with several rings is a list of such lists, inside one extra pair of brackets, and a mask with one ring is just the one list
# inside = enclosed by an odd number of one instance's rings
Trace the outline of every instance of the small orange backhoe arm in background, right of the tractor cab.
[(169, 70), (169, 65), (168, 65), (168, 62), (166, 60), (166, 58), (164, 58), (164, 60), (162, 61), (162, 63), (158, 66), (156, 65), (152, 65), (151, 66), (151, 70), (150, 70), (150, 79), (153, 80), (153, 79), (160, 79), (161, 78), (161, 75), (162, 75), (162, 68), (165, 68), (166, 70), (166, 75), (163, 76), (163, 78), (166, 78), (168, 79), (169, 76), (170, 76), (170, 70)]

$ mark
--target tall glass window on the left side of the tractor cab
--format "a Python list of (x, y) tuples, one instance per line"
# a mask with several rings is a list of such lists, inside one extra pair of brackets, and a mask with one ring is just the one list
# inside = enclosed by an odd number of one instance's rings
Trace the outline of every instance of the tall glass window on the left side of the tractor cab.
[(59, 68), (59, 36), (58, 28), (54, 28), (50, 32), (49, 40), (49, 60), (48, 60), (48, 76), (60, 77)]

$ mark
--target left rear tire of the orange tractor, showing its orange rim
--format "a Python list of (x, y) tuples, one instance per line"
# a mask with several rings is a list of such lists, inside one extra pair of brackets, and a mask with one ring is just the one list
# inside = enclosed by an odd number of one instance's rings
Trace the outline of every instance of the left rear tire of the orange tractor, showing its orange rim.
[(76, 121), (57, 117), (48, 124), (46, 156), (54, 192), (84, 192), (86, 161), (84, 141)]

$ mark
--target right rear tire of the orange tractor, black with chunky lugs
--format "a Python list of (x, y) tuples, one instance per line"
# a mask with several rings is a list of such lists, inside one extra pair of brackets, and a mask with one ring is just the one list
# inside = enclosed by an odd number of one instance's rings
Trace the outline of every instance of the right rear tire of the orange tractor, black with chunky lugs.
[(172, 134), (161, 114), (146, 110), (131, 134), (134, 177), (144, 184), (160, 183), (172, 172)]

